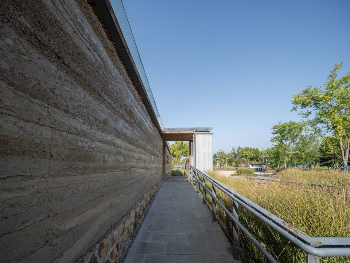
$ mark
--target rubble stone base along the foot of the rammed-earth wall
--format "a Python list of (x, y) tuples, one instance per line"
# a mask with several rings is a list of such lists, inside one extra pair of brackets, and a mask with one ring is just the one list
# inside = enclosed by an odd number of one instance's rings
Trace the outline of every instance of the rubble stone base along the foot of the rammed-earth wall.
[(161, 182), (149, 189), (102, 240), (76, 263), (118, 263)]

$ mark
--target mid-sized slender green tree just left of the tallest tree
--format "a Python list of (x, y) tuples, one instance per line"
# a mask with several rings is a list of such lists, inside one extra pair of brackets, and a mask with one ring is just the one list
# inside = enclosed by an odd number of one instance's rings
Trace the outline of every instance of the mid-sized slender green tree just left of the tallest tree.
[(295, 121), (285, 123), (279, 122), (272, 127), (272, 134), (275, 136), (271, 139), (271, 142), (277, 143), (281, 148), (283, 156), (285, 157), (285, 167), (288, 167), (295, 143), (299, 139), (302, 131), (303, 124)]

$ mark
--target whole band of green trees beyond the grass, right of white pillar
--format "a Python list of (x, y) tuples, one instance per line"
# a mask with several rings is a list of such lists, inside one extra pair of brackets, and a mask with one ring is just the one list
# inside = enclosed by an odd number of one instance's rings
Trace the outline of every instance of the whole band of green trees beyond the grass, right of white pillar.
[(320, 87), (308, 86), (293, 95), (291, 111), (300, 121), (278, 122), (271, 130), (273, 146), (268, 149), (233, 147), (214, 154), (217, 163), (244, 166), (263, 163), (270, 167), (343, 168), (350, 150), (350, 72), (338, 77), (343, 62), (330, 70)]

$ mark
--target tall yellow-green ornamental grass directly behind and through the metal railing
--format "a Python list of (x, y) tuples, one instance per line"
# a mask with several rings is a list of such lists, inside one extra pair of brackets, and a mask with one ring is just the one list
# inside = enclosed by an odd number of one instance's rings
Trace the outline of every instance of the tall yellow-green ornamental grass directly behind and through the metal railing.
[[(350, 237), (349, 189), (329, 193), (319, 191), (320, 188), (305, 184), (267, 180), (265, 183), (259, 184), (245, 178), (233, 180), (215, 172), (209, 172), (208, 174), (310, 236)], [(302, 176), (300, 176), (300, 180), (306, 178), (304, 173), (302, 173)], [(332, 176), (335, 177), (336, 175), (333, 174)], [(340, 174), (337, 178), (339, 176), (343, 178)], [(296, 177), (294, 179), (299, 180)], [(327, 182), (335, 181), (329, 179)], [(210, 183), (206, 182), (206, 186), (211, 190)], [(202, 188), (200, 190), (202, 191)], [(218, 189), (217, 198), (229, 211), (232, 211), (232, 200)], [(212, 198), (209, 194), (206, 195), (206, 199), (209, 207), (211, 207)], [(218, 205), (216, 210), (219, 220), (232, 233), (231, 219)], [(241, 206), (239, 207), (239, 221), (279, 262), (306, 262), (305, 252), (296, 248), (286, 238)], [(243, 233), (240, 232), (239, 236), (240, 251), (248, 262), (267, 262), (264, 255), (255, 248)], [(320, 262), (350, 262), (350, 257), (322, 257)]]

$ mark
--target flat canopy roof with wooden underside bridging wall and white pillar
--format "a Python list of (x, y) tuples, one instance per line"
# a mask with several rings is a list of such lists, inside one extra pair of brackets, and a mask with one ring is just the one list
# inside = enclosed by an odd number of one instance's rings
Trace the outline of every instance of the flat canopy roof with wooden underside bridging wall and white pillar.
[(163, 141), (190, 141), (196, 133), (210, 133), (212, 128), (163, 128)]

